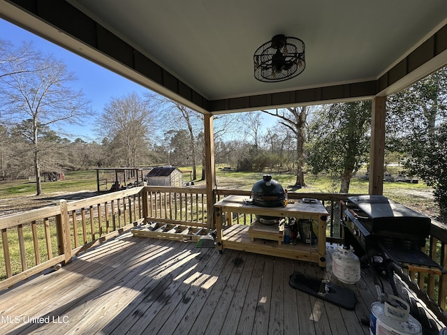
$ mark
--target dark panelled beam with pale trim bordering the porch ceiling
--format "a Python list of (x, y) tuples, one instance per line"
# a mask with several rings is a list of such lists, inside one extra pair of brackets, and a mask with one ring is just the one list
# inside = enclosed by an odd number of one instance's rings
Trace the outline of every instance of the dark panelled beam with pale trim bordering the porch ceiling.
[[(107, 24), (99, 24), (66, 1), (1, 2), (0, 15), (6, 20), (203, 113), (355, 101), (387, 95), (447, 64), (447, 26), (441, 25), (379, 77), (341, 84), (324, 84), (323, 81), (313, 87), (284, 87), (258, 93), (253, 90), (251, 94), (240, 96), (207, 98), (201, 90), (186, 84), (190, 82), (188, 78), (180, 80), (180, 76), (174, 74), (176, 71), (149, 59), (147, 52), (133, 46), (136, 42), (129, 44), (125, 36), (118, 37), (119, 34), (104, 27)], [(252, 64), (250, 66), (252, 70)]]

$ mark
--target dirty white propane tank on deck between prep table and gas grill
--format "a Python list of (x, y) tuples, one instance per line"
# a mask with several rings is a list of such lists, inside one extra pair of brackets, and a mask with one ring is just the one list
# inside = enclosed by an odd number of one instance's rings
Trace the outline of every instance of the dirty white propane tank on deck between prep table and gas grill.
[(355, 284), (360, 280), (360, 260), (353, 249), (337, 248), (332, 254), (332, 273), (345, 284)]

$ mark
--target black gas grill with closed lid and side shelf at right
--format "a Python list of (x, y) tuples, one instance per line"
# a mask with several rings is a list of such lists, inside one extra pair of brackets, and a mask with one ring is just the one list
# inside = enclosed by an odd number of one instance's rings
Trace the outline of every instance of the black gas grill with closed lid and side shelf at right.
[[(420, 249), (431, 220), (383, 195), (349, 197), (344, 205), (344, 244), (359, 257), (380, 256), (404, 269), (444, 274), (446, 271)], [(388, 266), (389, 269), (389, 266)]]

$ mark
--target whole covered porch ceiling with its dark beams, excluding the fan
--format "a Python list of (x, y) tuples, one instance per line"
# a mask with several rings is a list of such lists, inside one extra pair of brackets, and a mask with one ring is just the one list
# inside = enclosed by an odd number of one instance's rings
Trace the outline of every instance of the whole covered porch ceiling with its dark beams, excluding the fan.
[[(204, 114), (386, 96), (447, 65), (445, 0), (0, 0), (0, 16)], [(306, 68), (259, 82), (276, 34), (305, 42)]]

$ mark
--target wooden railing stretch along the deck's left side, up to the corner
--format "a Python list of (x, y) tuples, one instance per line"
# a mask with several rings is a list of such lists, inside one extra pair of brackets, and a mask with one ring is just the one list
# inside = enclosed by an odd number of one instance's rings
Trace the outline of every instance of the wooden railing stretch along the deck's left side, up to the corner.
[(142, 194), (132, 188), (0, 217), (0, 290), (142, 223)]

